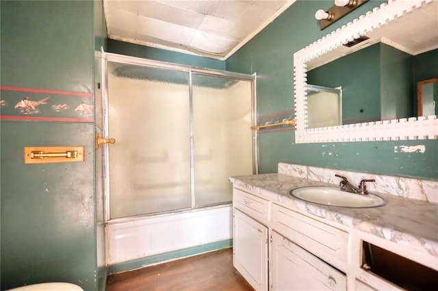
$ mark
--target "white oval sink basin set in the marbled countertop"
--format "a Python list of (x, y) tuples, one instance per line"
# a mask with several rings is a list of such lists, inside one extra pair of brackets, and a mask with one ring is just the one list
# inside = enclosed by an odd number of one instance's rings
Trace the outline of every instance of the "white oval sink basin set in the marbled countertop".
[(327, 206), (371, 208), (386, 204), (385, 200), (377, 195), (359, 195), (340, 191), (339, 188), (335, 187), (300, 187), (297, 189), (292, 189), (289, 193), (300, 200)]

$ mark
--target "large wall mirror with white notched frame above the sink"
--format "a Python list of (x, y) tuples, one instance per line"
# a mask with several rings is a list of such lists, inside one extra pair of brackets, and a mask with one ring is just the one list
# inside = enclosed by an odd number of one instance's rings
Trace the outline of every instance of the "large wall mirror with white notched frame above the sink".
[[(404, 25), (407, 26), (404, 27)], [(363, 41), (360, 42), (361, 40)], [(350, 45), (352, 43), (355, 45)], [(350, 66), (346, 73), (333, 69), (322, 70), (324, 67), (333, 66), (333, 61), (339, 61), (340, 57), (354, 58), (352, 56), (355, 54), (352, 53), (363, 54), (373, 50), (378, 53), (377, 57), (359, 57), (365, 60), (363, 64)], [(415, 64), (413, 58), (430, 54), (426, 52), (435, 54), (436, 59), (438, 1), (389, 1), (296, 52), (294, 54), (296, 142), (437, 139), (436, 115), (413, 117), (417, 115), (417, 111), (413, 108), (414, 104), (416, 105), (414, 101), (416, 97), (413, 97), (416, 95), (415, 85), (413, 85), (416, 81), (413, 80), (423, 72), (400, 73), (395, 70), (406, 66), (403, 63), (406, 59), (411, 64)], [(364, 66), (370, 67), (372, 62), (375, 63), (374, 66), (384, 70), (371, 74), (372, 77), (354, 79), (365, 70)], [(436, 66), (429, 64), (428, 67)], [(342, 112), (344, 125), (311, 128), (306, 81), (312, 80), (313, 82), (315, 75), (318, 75), (315, 72), (318, 70), (321, 70), (319, 74), (325, 77), (344, 74), (347, 77), (338, 76), (339, 79), (351, 80), (351, 84), (348, 85), (324, 82), (316, 84), (328, 87), (342, 86), (344, 109), (347, 108), (348, 112), (357, 111), (357, 113), (377, 111), (378, 114), (373, 113), (373, 115), (378, 115), (379, 118), (374, 118), (376, 116), (362, 117), (360, 114), (359, 117), (348, 116), (344, 110)], [(436, 72), (437, 69), (434, 70)], [(372, 80), (366, 85), (368, 79)], [(355, 86), (352, 86), (352, 83), (355, 83)], [(370, 89), (374, 89), (374, 92)], [(346, 99), (347, 95), (357, 99), (349, 101)], [(360, 95), (363, 96), (360, 97)], [(376, 95), (381, 95), (382, 98), (377, 99)]]

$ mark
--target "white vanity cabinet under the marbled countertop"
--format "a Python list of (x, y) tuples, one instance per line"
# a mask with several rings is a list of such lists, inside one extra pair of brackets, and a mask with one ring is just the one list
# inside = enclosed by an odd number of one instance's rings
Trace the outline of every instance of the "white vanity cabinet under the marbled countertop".
[(233, 262), (255, 290), (438, 286), (435, 255), (307, 215), (281, 199), (271, 191), (257, 195), (233, 189)]

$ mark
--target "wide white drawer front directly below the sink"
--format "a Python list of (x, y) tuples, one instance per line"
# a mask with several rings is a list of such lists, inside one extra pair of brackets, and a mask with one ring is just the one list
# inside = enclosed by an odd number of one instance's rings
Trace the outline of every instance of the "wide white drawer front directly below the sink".
[(272, 205), (272, 227), (329, 264), (345, 268), (348, 233), (276, 204)]

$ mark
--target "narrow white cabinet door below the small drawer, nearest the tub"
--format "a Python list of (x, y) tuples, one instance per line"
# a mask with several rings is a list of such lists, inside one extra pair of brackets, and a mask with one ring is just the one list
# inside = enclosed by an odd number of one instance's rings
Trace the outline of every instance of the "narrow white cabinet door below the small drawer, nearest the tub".
[(255, 288), (268, 290), (268, 228), (234, 209), (233, 262)]

